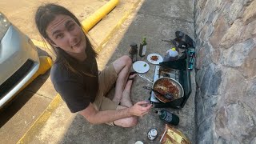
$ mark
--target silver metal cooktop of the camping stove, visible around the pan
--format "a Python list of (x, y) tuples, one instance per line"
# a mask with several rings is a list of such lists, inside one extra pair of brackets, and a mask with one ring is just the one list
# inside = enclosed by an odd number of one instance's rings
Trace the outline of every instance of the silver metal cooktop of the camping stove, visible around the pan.
[[(166, 68), (162, 66), (155, 66), (153, 82), (155, 82), (158, 78), (162, 78), (162, 77), (173, 78), (174, 80), (179, 82), (179, 74), (180, 74), (179, 70), (174, 70), (174, 69)], [(150, 101), (159, 102), (158, 98), (155, 98), (154, 92), (151, 93)]]

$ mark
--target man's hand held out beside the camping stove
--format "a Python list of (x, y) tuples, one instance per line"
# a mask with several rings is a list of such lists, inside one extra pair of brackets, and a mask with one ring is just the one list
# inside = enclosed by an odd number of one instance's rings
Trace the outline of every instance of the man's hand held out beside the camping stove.
[[(146, 105), (146, 106), (142, 106), (142, 105)], [(150, 108), (152, 107), (152, 104), (149, 104), (146, 101), (142, 101), (142, 102), (137, 102), (134, 104), (134, 106), (131, 106), (129, 108), (129, 113), (134, 115), (134, 116), (143, 116), (144, 114), (147, 114), (150, 111)]]

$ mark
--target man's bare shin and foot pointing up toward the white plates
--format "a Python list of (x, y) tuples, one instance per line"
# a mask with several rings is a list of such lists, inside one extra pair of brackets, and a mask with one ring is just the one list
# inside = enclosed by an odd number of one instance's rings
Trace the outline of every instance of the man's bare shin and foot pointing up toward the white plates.
[(133, 106), (133, 103), (131, 102), (131, 98), (130, 98), (130, 89), (131, 89), (131, 85), (133, 83), (133, 79), (136, 75), (137, 74), (130, 75), (128, 78), (126, 87), (122, 92), (122, 98), (120, 101), (121, 106), (126, 106), (126, 107)]

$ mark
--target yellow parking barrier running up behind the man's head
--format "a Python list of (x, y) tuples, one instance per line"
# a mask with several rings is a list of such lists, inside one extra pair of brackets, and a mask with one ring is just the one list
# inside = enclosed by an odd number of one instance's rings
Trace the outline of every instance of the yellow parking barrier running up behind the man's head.
[(82, 21), (82, 26), (84, 30), (88, 33), (88, 31), (93, 28), (102, 18), (106, 16), (111, 10), (114, 9), (115, 6), (118, 5), (119, 0), (110, 0), (100, 9), (94, 12), (94, 14), (90, 15), (89, 18), (86, 18)]

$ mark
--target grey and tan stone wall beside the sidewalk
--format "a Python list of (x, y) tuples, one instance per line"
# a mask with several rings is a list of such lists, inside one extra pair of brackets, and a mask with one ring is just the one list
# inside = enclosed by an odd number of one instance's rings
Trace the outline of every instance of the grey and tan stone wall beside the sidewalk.
[(256, 0), (196, 0), (198, 143), (256, 143)]

